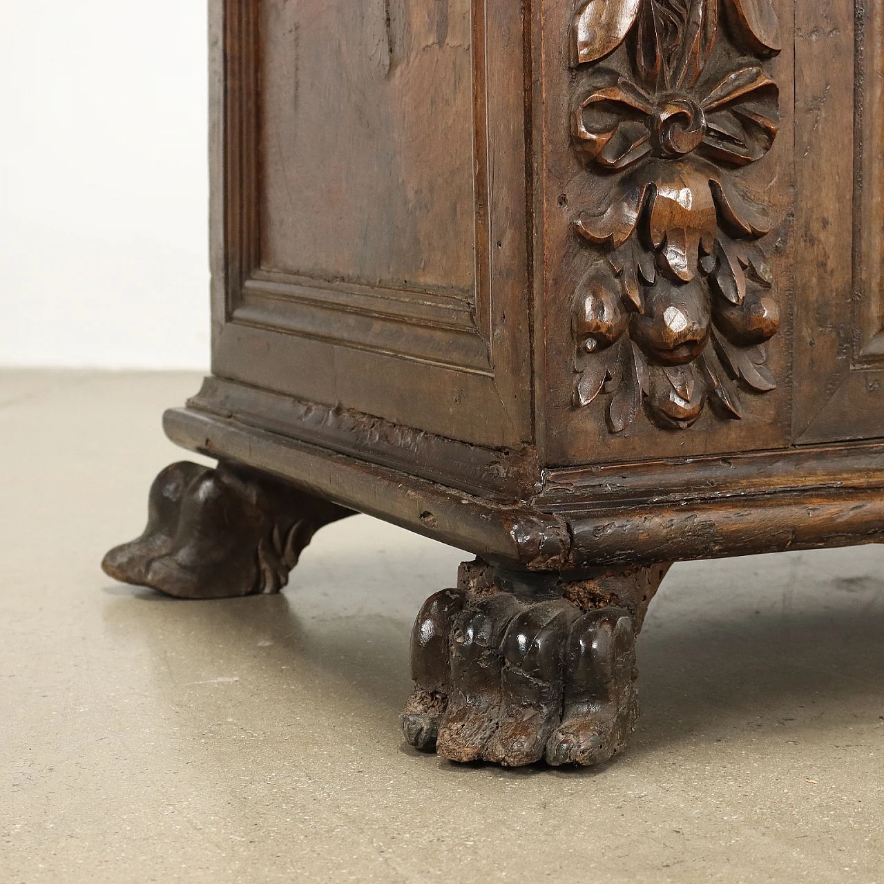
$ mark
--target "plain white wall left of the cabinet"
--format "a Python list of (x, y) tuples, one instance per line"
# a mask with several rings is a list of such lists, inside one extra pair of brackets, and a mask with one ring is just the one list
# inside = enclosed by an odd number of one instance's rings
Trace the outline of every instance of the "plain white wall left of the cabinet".
[(0, 364), (205, 368), (206, 0), (0, 7)]

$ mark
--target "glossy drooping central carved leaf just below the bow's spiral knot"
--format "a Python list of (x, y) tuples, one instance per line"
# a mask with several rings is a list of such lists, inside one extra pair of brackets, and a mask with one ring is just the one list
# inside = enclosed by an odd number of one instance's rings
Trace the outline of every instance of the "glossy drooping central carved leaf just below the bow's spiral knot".
[(699, 251), (713, 250), (718, 221), (709, 180), (702, 168), (688, 163), (656, 164), (649, 197), (654, 248), (675, 277), (690, 282), (697, 273)]

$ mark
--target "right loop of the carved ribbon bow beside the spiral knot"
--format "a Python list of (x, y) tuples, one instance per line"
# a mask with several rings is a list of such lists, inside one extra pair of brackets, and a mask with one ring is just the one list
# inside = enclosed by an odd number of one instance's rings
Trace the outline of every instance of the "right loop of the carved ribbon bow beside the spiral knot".
[(706, 134), (700, 150), (720, 162), (754, 163), (780, 128), (780, 91), (760, 67), (744, 67), (717, 83), (701, 103)]

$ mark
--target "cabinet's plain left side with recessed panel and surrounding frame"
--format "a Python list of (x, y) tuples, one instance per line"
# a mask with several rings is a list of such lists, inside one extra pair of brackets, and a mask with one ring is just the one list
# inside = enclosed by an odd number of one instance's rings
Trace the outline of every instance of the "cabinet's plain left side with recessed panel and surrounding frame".
[(214, 373), (444, 438), (529, 441), (520, 8), (210, 8)]

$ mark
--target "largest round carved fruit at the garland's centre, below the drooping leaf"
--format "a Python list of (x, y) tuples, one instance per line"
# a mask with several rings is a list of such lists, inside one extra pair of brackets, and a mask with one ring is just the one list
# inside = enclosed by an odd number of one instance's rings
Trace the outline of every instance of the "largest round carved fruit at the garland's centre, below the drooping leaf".
[(636, 316), (633, 336), (644, 352), (663, 365), (682, 365), (703, 352), (712, 320), (699, 278), (685, 285), (658, 278), (644, 295), (644, 315)]

